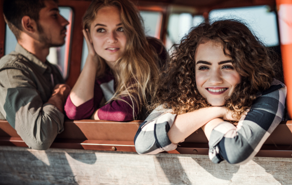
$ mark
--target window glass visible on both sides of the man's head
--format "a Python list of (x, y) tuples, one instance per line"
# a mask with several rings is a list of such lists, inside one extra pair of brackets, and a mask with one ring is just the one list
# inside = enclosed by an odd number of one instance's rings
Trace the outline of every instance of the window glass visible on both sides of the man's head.
[[(59, 7), (60, 14), (67, 19), (70, 24), (67, 26), (67, 37), (66, 42), (61, 47), (51, 47), (50, 54), (47, 56), (47, 60), (56, 64), (64, 78), (67, 78), (68, 74), (68, 61), (69, 61), (69, 52), (70, 52), (70, 37), (71, 37), (71, 27), (73, 26), (72, 16), (73, 11), (69, 7)], [(5, 36), (5, 55), (15, 50), (15, 46), (17, 44), (17, 39), (14, 34), (9, 29), (8, 25), (6, 25), (6, 36)]]

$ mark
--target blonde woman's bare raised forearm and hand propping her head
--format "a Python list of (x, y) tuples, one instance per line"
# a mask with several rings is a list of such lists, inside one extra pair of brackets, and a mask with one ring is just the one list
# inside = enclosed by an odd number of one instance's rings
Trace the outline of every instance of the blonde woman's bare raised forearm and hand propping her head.
[(83, 30), (83, 35), (88, 46), (89, 54), (86, 58), (84, 68), (70, 92), (71, 101), (76, 107), (93, 98), (94, 82), (98, 65), (97, 54), (89, 38), (88, 30)]

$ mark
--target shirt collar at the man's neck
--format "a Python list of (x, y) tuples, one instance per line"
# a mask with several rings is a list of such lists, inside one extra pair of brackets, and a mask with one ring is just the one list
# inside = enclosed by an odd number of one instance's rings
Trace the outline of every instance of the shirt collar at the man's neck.
[(24, 49), (20, 44), (16, 44), (15, 51), (21, 54), (22, 56), (25, 56), (28, 60), (35, 63), (37, 67), (39, 68), (39, 71), (43, 74), (46, 70), (49, 70), (49, 73), (51, 73), (51, 68), (48, 68), (49, 62), (46, 61), (43, 63), (40, 61), (36, 56), (34, 56), (32, 53), (28, 52), (26, 49)]

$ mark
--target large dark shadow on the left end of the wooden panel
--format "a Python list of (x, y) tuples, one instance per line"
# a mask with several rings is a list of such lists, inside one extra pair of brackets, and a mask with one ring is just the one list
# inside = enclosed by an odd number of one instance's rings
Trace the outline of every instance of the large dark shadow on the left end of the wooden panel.
[(0, 156), (0, 184), (78, 185), (65, 152), (12, 148)]

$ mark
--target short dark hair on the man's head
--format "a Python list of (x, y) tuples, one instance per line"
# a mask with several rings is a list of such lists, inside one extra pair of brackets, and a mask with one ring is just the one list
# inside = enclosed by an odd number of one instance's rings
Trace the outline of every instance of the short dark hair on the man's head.
[[(29, 16), (38, 22), (39, 11), (45, 7), (45, 0), (4, 0), (3, 14), (10, 30), (18, 39), (22, 30), (21, 19)], [(58, 0), (53, 0), (58, 2)]]

